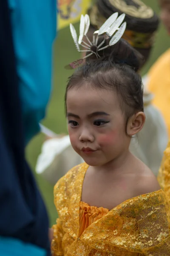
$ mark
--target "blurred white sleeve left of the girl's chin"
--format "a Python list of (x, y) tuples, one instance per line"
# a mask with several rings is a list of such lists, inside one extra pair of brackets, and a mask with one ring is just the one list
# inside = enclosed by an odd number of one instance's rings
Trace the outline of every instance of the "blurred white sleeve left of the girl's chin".
[(69, 169), (82, 163), (83, 159), (74, 151), (68, 135), (46, 140), (37, 159), (36, 172), (49, 183), (55, 183)]

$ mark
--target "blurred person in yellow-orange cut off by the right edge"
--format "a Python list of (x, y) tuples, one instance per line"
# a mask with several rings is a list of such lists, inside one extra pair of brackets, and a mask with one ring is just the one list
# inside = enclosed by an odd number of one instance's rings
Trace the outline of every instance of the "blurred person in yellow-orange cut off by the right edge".
[[(170, 35), (170, 0), (159, 0), (161, 20)], [(170, 49), (153, 64), (148, 73), (148, 90), (154, 94), (155, 105), (164, 116), (170, 137)]]

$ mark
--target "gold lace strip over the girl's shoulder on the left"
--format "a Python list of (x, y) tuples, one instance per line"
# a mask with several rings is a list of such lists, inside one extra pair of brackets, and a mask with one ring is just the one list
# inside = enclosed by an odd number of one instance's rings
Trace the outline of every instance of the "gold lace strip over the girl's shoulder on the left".
[(57, 224), (53, 226), (54, 239), (51, 243), (53, 256), (66, 255), (68, 247), (77, 238), (81, 197), (79, 175), (84, 177), (86, 169), (85, 163), (75, 166), (54, 186), (54, 204), (59, 218)]

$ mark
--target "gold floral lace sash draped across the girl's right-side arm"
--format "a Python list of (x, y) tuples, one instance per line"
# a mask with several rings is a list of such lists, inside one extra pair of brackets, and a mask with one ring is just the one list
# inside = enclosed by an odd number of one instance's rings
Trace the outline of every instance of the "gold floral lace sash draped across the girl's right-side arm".
[(116, 256), (170, 255), (170, 222), (164, 192), (125, 201), (89, 226), (80, 240), (87, 250), (91, 247)]

